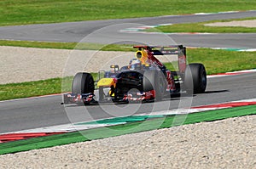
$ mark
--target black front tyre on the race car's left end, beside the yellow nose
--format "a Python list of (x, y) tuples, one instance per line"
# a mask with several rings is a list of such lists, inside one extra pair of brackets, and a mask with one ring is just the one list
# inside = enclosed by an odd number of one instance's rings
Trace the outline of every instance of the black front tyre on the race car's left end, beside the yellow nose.
[(94, 93), (94, 80), (90, 73), (79, 72), (73, 78), (72, 93)]

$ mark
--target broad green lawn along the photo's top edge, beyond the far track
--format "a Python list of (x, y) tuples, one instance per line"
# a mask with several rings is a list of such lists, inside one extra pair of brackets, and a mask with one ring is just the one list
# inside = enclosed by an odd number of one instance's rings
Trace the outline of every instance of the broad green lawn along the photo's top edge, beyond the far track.
[(107, 20), (255, 9), (254, 0), (2, 0), (0, 25)]

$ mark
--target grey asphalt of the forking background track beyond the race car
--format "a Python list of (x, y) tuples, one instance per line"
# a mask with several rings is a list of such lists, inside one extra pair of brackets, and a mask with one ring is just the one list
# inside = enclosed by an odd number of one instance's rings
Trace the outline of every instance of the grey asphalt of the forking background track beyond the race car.
[(46, 42), (97, 42), (97, 43), (140, 43), (166, 45), (183, 44), (190, 47), (210, 48), (255, 48), (255, 33), (210, 34), (210, 35), (144, 35), (122, 33), (119, 30), (143, 26), (175, 23), (193, 23), (207, 20), (223, 20), (255, 17), (256, 11), (220, 14), (171, 15), (161, 17), (94, 20), (44, 25), (16, 25), (0, 27), (0, 39), (46, 41)]

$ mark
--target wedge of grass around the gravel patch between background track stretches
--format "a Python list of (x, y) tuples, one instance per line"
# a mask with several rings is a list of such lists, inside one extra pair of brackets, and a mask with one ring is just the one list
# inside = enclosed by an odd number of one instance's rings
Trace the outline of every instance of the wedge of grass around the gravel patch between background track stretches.
[[(256, 20), (256, 18), (245, 18), (241, 20)], [(255, 33), (255, 27), (242, 27), (242, 26), (207, 26), (205, 24), (214, 22), (228, 22), (232, 20), (214, 20), (199, 23), (184, 23), (184, 24), (173, 24), (173, 25), (160, 25), (155, 28), (148, 29), (146, 31), (152, 32), (209, 32), (209, 33)]]

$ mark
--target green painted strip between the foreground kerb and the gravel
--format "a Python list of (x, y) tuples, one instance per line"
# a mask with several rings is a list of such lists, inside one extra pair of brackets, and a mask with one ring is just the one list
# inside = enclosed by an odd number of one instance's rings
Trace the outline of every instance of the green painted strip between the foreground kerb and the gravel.
[[(26, 151), (30, 149), (42, 149), (62, 144), (72, 144), (89, 141), (92, 139), (109, 138), (133, 132), (145, 132), (149, 130), (174, 127), (184, 124), (193, 124), (201, 121), (217, 121), (229, 117), (242, 115), (256, 115), (256, 105), (241, 106), (223, 110), (211, 110), (194, 114), (167, 115), (166, 117), (147, 118), (146, 121), (137, 121), (112, 127), (101, 127), (80, 132), (68, 132), (42, 138), (30, 138), (0, 144), (0, 155)], [(184, 121), (183, 121), (184, 119)], [(183, 121), (182, 124), (176, 121)]]

